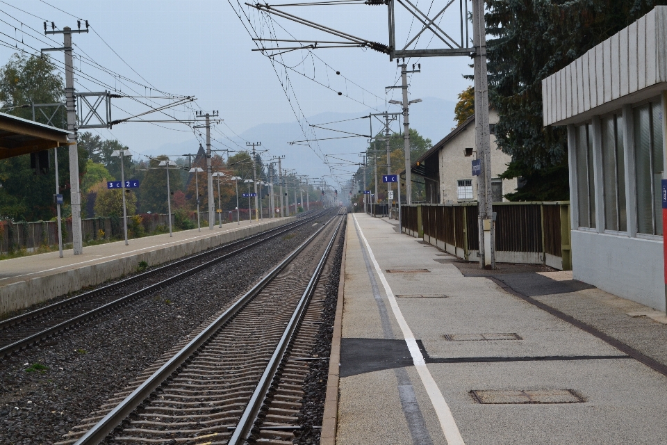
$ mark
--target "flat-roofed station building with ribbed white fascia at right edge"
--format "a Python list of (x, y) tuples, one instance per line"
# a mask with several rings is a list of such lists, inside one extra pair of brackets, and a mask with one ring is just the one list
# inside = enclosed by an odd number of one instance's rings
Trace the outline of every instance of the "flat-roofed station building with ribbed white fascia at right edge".
[(567, 126), (573, 277), (665, 310), (661, 180), (667, 6), (543, 79), (543, 123)]

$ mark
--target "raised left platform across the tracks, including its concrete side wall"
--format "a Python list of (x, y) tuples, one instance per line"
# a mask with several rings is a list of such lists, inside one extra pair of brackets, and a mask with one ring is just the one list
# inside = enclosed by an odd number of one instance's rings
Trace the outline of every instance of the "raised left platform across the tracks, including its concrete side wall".
[(95, 286), (138, 270), (141, 261), (157, 266), (174, 259), (236, 241), (290, 223), (294, 217), (228, 223), (169, 234), (88, 246), (0, 261), (0, 315), (43, 302), (86, 286)]

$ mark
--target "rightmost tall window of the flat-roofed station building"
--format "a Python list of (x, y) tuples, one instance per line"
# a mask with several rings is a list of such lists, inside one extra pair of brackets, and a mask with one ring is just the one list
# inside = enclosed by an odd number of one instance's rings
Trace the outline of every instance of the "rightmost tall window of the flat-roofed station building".
[(661, 184), (662, 105), (660, 101), (634, 108), (634, 149), (637, 181), (637, 232), (662, 234)]

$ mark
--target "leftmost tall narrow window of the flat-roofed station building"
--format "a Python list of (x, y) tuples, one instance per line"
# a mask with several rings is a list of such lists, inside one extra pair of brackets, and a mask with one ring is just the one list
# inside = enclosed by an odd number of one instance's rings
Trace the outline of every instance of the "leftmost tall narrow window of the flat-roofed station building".
[(593, 185), (593, 126), (577, 127), (577, 204), (579, 227), (595, 227), (595, 186)]

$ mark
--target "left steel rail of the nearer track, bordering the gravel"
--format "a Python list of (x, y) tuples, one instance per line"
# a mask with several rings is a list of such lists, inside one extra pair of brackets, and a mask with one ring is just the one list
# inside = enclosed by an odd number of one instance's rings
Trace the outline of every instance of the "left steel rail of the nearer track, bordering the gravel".
[[(336, 216), (334, 216), (336, 218)], [(215, 319), (208, 327), (203, 331), (199, 332), (197, 336), (192, 339), (186, 346), (183, 346), (178, 353), (176, 353), (172, 358), (170, 358), (163, 366), (160, 366), (160, 369), (155, 371), (147, 380), (142, 382), (141, 385), (132, 393), (124, 398), (116, 407), (111, 410), (104, 418), (97, 422), (90, 430), (88, 430), (85, 435), (83, 435), (79, 440), (77, 440), (74, 445), (92, 445), (99, 444), (104, 440), (107, 435), (109, 435), (113, 430), (119, 426), (127, 416), (129, 416), (134, 410), (137, 409), (143, 401), (145, 401), (158, 387), (163, 385), (167, 378), (172, 375), (172, 373), (181, 370), (181, 366), (194, 355), (201, 346), (204, 346), (208, 343), (211, 338), (217, 334), (217, 332), (224, 327), (231, 319), (237, 316), (238, 312), (243, 309), (258, 293), (260, 293), (266, 286), (269, 284), (274, 277), (276, 277), (283, 268), (285, 268), (290, 262), (301, 253), (308, 244), (310, 244), (321, 232), (327, 227), (331, 221), (334, 220), (331, 218), (327, 224), (322, 225), (317, 232), (308, 237), (298, 248), (293, 250), (292, 253), (288, 255), (280, 264), (273, 268), (267, 275), (265, 275), (262, 280), (255, 284), (252, 289), (247, 291), (241, 298), (236, 300), (236, 302), (229, 307), (223, 314)]]

